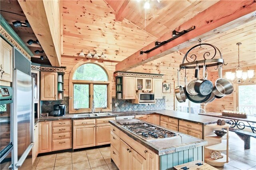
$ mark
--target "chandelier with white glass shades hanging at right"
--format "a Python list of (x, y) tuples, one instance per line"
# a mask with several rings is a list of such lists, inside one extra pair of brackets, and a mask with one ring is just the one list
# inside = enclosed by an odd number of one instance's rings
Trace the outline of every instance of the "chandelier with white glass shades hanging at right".
[[(242, 43), (236, 43), (238, 45), (238, 65), (236, 66), (236, 73), (233, 73), (231, 71), (226, 72), (226, 79), (232, 81), (233, 83), (244, 83), (246, 82), (246, 79), (249, 78), (249, 81), (251, 81), (252, 77), (254, 76), (254, 70), (248, 70), (246, 72), (243, 72), (242, 66), (240, 65), (240, 55), (239, 55), (239, 45)], [(248, 82), (249, 82), (248, 81)]]

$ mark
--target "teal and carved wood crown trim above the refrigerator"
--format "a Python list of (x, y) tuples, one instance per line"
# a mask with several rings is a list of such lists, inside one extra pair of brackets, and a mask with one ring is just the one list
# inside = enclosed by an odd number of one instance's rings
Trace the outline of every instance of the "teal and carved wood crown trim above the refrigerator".
[(0, 14), (0, 33), (6, 38), (12, 45), (14, 45), (17, 49), (20, 50), (28, 59), (31, 59), (31, 56), (34, 56), (30, 49), (26, 46), (26, 44), (20, 39), (20, 37), (12, 30), (10, 25), (6, 22), (6, 20)]

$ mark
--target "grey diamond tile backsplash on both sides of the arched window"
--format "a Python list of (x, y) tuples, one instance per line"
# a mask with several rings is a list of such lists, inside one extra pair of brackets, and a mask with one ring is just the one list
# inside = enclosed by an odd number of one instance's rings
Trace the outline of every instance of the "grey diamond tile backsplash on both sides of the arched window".
[[(66, 105), (66, 114), (68, 114), (68, 97), (64, 97), (62, 101), (42, 101), (41, 110), (42, 112), (48, 112), (50, 115), (53, 115), (53, 105), (56, 104), (65, 104)], [(115, 107), (117, 104), (117, 107)], [(165, 97), (163, 99), (156, 99), (155, 104), (133, 104), (132, 100), (120, 100), (115, 97), (112, 98), (112, 111), (113, 112), (122, 112), (122, 111), (150, 111), (150, 110), (161, 110), (165, 109)]]

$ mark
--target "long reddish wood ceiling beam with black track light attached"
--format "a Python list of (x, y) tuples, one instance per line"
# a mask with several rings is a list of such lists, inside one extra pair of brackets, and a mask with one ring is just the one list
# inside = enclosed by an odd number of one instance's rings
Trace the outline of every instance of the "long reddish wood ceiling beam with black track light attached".
[[(239, 1), (220, 1), (210, 8), (199, 13), (184, 24), (180, 25), (176, 31), (187, 30), (191, 26), (196, 29), (187, 34), (176, 38), (175, 40), (162, 45), (161, 47), (151, 51), (150, 53), (140, 55), (140, 51), (146, 51), (154, 47), (154, 42), (146, 47), (130, 55), (116, 65), (117, 71), (127, 71), (138, 65), (142, 65), (154, 59), (158, 59), (167, 54), (173, 53), (188, 47), (198, 42), (201, 38), (204, 41), (206, 38), (220, 34), (226, 30), (235, 28), (240, 24), (255, 20), (256, 2), (253, 0), (239, 0)], [(157, 41), (162, 42), (172, 37), (172, 32), (164, 34), (158, 38)]]

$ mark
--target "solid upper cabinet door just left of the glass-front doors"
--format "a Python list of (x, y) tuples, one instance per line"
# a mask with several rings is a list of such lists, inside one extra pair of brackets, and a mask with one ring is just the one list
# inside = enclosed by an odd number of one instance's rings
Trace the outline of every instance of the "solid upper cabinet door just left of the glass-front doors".
[(135, 99), (135, 77), (123, 77), (123, 99)]

